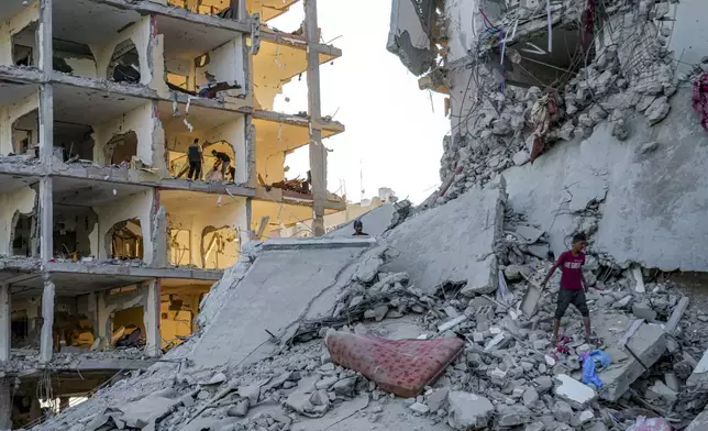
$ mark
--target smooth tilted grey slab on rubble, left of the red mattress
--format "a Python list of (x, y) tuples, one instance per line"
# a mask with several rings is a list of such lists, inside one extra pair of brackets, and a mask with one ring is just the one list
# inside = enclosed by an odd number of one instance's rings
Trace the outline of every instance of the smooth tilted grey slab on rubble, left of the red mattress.
[(264, 250), (243, 279), (223, 295), (222, 308), (208, 322), (190, 360), (197, 367), (211, 368), (263, 358), (274, 347), (266, 330), (281, 335), (298, 320), (310, 317), (310, 308), (320, 297), (332, 297), (333, 306), (334, 296), (327, 295), (328, 290), (338, 289), (338, 280), (346, 278), (340, 275), (365, 250)]

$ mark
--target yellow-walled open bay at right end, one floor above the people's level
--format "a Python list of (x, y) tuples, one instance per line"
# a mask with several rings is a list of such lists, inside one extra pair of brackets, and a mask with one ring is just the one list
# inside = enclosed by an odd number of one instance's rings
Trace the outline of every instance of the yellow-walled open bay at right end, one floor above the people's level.
[[(342, 51), (329, 45), (317, 46), (320, 64), (342, 56)], [(292, 78), (303, 79), (307, 71), (307, 43), (302, 37), (264, 30), (261, 49), (253, 56), (252, 80), (254, 106), (272, 111), (275, 97)]]

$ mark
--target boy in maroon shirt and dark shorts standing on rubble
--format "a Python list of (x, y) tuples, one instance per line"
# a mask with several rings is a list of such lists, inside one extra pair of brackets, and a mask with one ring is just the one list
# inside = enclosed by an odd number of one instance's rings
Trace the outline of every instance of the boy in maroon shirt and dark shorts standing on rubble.
[(587, 244), (587, 239), (583, 233), (577, 233), (573, 236), (572, 248), (563, 252), (555, 264), (551, 267), (549, 275), (545, 276), (541, 287), (545, 287), (549, 279), (560, 266), (561, 272), (561, 290), (558, 291), (558, 307), (555, 310), (555, 320), (553, 320), (553, 344), (558, 341), (558, 329), (561, 328), (561, 319), (568, 306), (572, 303), (583, 316), (585, 323), (585, 338), (590, 339), (590, 313), (587, 309), (587, 301), (585, 292), (587, 291), (587, 281), (583, 276), (583, 265), (585, 264), (585, 254), (583, 250)]

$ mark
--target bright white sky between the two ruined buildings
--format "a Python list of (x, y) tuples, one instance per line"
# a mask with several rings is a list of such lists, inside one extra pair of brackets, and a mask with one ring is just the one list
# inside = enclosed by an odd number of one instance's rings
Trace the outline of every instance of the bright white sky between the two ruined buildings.
[[(418, 78), (386, 51), (391, 0), (319, 0), (324, 42), (342, 57), (320, 67), (322, 117), (334, 115), (346, 131), (324, 140), (328, 190), (358, 202), (389, 187), (420, 203), (440, 185), (442, 140), (450, 132), (442, 95), (420, 90)], [(294, 31), (302, 21), (302, 2), (268, 24)], [(288, 101), (286, 101), (288, 100)], [(307, 79), (294, 79), (276, 98), (276, 111), (307, 111)], [(336, 114), (335, 114), (336, 112)], [(305, 177), (308, 147), (286, 158), (289, 178)], [(363, 177), (363, 183), (361, 181)]]

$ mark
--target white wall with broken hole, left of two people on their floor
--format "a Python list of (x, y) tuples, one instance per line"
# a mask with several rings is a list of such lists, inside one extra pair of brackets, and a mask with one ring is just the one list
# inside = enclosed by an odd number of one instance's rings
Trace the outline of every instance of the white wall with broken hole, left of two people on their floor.
[[(154, 103), (145, 102), (113, 120), (103, 124), (93, 125), (93, 162), (108, 166), (111, 164), (110, 154), (106, 153), (106, 146), (118, 135), (134, 132), (137, 136), (137, 157), (146, 165), (152, 166), (158, 159), (154, 148), (161, 141), (154, 142), (161, 136), (162, 124), (154, 113)], [(164, 137), (163, 141), (164, 142)]]

